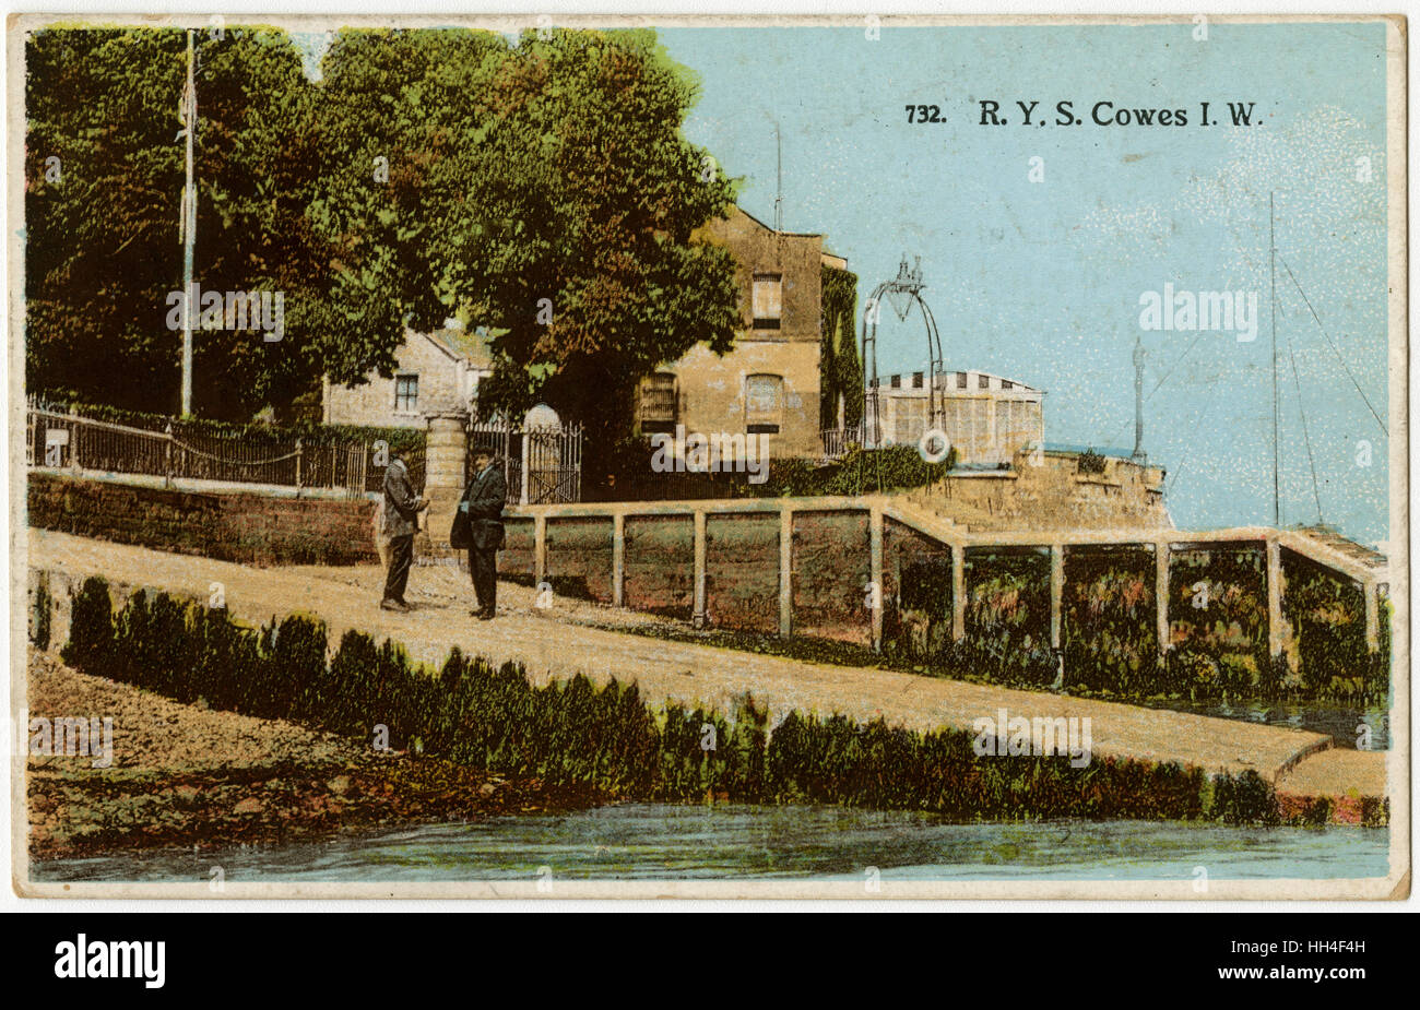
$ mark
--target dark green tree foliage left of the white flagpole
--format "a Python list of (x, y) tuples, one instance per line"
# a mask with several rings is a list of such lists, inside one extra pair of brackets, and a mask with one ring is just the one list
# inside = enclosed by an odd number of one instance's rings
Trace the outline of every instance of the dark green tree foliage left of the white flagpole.
[(47, 30), (26, 45), (26, 373), (31, 390), (152, 406), (173, 392), (175, 143), (183, 40)]

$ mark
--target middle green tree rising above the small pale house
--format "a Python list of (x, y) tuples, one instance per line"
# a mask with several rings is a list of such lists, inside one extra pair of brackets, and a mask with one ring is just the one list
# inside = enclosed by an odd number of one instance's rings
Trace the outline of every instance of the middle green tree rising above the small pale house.
[[(351, 267), (341, 299), (352, 316), (388, 296), (402, 335), (403, 325), (433, 329), (467, 312), (452, 287), (450, 250), (467, 247), (464, 204), (496, 170), (480, 142), (484, 95), (504, 55), (501, 35), (459, 28), (345, 30), (327, 51), (311, 218)], [(332, 377), (364, 377), (364, 359), (337, 365), (345, 367)]]

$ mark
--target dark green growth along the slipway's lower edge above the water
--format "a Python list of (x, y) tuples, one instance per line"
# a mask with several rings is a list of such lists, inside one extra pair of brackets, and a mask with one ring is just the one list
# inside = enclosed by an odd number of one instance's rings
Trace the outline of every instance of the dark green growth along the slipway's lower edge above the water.
[(605, 800), (836, 803), (957, 820), (1037, 817), (1272, 823), (1277, 797), (1255, 772), (1096, 759), (981, 758), (974, 735), (882, 719), (790, 712), (770, 729), (748, 695), (730, 714), (653, 709), (635, 684), (586, 677), (535, 687), (454, 648), (435, 675), (392, 641), (346, 631), (327, 658), (318, 618), (253, 630), (226, 610), (135, 593), (114, 614), (108, 584), (74, 597), (62, 660), (185, 702), (283, 718), (510, 777), (591, 787)]

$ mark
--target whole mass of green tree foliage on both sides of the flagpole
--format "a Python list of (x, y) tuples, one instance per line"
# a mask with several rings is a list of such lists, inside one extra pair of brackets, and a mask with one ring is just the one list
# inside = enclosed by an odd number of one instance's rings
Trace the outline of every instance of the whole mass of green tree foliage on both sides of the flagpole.
[[(173, 410), (185, 33), (27, 52), (30, 387)], [(728, 349), (733, 264), (692, 234), (733, 187), (680, 135), (694, 84), (653, 33), (346, 30), (321, 71), (281, 31), (197, 33), (196, 279), (285, 295), (281, 340), (197, 332), (200, 414), (388, 374), (406, 325), (457, 315), (497, 335), (494, 406), (615, 435), (642, 374)]]

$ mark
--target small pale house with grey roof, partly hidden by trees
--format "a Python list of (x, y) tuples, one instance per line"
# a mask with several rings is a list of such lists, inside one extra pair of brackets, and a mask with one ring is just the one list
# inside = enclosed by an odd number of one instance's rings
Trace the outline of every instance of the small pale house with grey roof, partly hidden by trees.
[(474, 414), (479, 383), (493, 374), (483, 331), (450, 326), (432, 333), (405, 331), (395, 374), (371, 372), (359, 386), (324, 380), (325, 424), (423, 428), (430, 414)]

